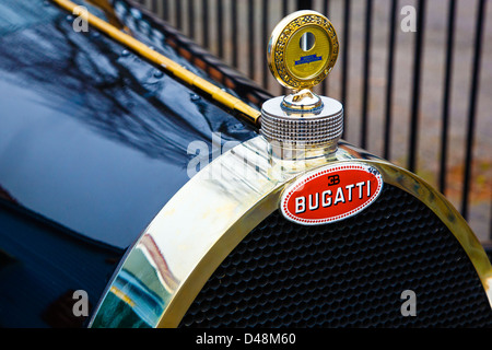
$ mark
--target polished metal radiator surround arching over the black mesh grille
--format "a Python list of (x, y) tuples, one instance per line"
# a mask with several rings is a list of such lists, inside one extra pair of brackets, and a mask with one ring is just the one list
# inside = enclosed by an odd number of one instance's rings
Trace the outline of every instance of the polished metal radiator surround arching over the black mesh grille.
[[(109, 302), (117, 298), (137, 315), (154, 306), (147, 315), (151, 327), (177, 327), (216, 267), (279, 208), (286, 185), (307, 171), (344, 161), (375, 166), (385, 183), (434, 211), (465, 248), (492, 305), (492, 267), (482, 246), (456, 209), (420, 177), (344, 142), (324, 158), (279, 160), (269, 155), (266, 139), (256, 137), (219, 156), (167, 202), (129, 252), (90, 326), (122, 325)], [(150, 295), (134, 296), (142, 291)]]

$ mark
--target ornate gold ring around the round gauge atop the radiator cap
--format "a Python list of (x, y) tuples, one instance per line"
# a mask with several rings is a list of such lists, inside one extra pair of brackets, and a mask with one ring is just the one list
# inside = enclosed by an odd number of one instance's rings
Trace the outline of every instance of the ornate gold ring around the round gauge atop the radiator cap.
[[(328, 58), (321, 69), (306, 78), (301, 78), (293, 72), (286, 61), (286, 49), (293, 37), (298, 36), (300, 31), (316, 28), (323, 32), (328, 39)], [(312, 89), (319, 84), (333, 68), (339, 52), (337, 33), (331, 22), (323, 14), (302, 10), (285, 16), (274, 27), (267, 49), (268, 66), (277, 81), (294, 91)], [(291, 65), (292, 66), (292, 65)]]

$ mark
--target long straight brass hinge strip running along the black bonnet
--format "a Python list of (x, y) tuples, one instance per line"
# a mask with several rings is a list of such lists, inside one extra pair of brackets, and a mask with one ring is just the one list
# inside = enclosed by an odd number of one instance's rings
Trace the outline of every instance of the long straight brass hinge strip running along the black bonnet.
[[(60, 8), (74, 13), (77, 3), (69, 0), (51, 0)], [(191, 88), (210, 95), (210, 98), (231, 110), (236, 112), (245, 121), (250, 122), (255, 126), (259, 126), (259, 117), (261, 113), (256, 108), (244, 103), (239, 98), (231, 95), (230, 93), (223, 91), (219, 86), (212, 84), (208, 80), (198, 77), (197, 74), (190, 72), (186, 68), (165, 57), (164, 55), (151, 49), (149, 46), (142, 42), (133, 38), (132, 36), (121, 32), (116, 26), (101, 20), (92, 13), (87, 13), (87, 23), (106, 34), (108, 37), (118, 42), (120, 45), (132, 50), (137, 55), (145, 58), (150, 62), (154, 63), (160, 69), (166, 71), (168, 74), (174, 75), (176, 79), (183, 81), (184, 83), (190, 85)]]

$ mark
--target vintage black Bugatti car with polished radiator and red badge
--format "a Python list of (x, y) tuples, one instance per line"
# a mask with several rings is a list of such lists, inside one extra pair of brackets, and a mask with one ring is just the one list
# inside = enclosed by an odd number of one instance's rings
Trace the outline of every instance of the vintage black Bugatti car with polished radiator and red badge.
[[(293, 15), (272, 65), (301, 22), (333, 65), (329, 21)], [(271, 96), (129, 1), (0, 1), (0, 325), (491, 326), (457, 210), (307, 95)]]

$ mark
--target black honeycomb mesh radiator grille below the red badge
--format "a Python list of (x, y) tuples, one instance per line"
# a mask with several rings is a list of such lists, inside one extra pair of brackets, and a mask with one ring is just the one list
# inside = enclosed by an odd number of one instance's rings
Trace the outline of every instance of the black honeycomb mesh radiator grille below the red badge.
[[(417, 316), (403, 317), (403, 290)], [(491, 307), (466, 253), (411, 195), (385, 185), (362, 213), (303, 226), (278, 211), (200, 291), (185, 327), (476, 327)]]

